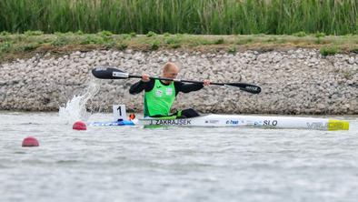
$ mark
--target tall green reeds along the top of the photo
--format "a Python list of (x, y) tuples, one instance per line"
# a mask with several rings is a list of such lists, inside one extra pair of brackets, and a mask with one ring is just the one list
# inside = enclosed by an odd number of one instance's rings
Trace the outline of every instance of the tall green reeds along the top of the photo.
[(0, 32), (358, 34), (356, 0), (0, 0)]

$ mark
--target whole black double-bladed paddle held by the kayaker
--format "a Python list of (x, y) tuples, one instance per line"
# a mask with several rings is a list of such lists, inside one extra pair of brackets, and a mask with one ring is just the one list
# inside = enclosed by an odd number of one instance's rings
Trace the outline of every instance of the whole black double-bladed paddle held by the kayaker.
[[(128, 73), (125, 73), (122, 70), (113, 68), (113, 67), (105, 67), (100, 66), (96, 67), (92, 70), (92, 74), (97, 78), (102, 79), (125, 79), (125, 78), (142, 78), (142, 76), (134, 76), (129, 75)], [(173, 78), (164, 78), (164, 77), (150, 77), (151, 79), (160, 79), (163, 81), (178, 81), (178, 82), (184, 82), (184, 83), (194, 83), (194, 84), (204, 84), (202, 81), (190, 81), (190, 80), (182, 80), (182, 79), (173, 79)], [(252, 94), (259, 94), (261, 92), (260, 86), (255, 86), (251, 84), (245, 84), (245, 83), (214, 83), (210, 82), (210, 85), (217, 85), (217, 86), (234, 86), (239, 87), (241, 90), (244, 90), (246, 92), (252, 93)]]

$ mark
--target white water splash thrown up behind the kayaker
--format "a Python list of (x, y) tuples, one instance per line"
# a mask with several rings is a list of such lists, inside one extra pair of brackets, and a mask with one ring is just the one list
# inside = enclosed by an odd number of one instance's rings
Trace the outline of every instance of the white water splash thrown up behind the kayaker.
[(90, 82), (84, 90), (84, 95), (74, 96), (65, 106), (60, 107), (58, 115), (65, 121), (65, 124), (72, 124), (78, 120), (88, 120), (91, 114), (86, 111), (85, 104), (88, 99), (97, 94), (98, 90), (98, 83)]

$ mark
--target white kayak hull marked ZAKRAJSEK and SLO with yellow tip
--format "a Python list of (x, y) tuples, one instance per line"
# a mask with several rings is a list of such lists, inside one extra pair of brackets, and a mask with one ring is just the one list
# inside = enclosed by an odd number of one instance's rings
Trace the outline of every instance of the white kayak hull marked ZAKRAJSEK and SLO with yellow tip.
[(206, 115), (194, 118), (142, 118), (136, 125), (144, 126), (258, 126), (315, 130), (348, 130), (344, 120), (295, 116)]

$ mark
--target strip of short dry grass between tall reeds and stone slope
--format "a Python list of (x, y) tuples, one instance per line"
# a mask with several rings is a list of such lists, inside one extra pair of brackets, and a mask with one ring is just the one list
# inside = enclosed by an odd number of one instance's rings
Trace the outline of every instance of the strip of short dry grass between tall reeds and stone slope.
[(44, 35), (42, 32), (0, 35), (0, 63), (15, 58), (26, 58), (35, 54), (52, 53), (58, 55), (74, 51), (94, 49), (116, 49), (152, 51), (158, 49), (191, 49), (204, 52), (225, 51), (234, 54), (237, 51), (252, 49), (269, 51), (289, 48), (317, 48), (323, 56), (337, 53), (358, 53), (358, 35), (113, 35), (110, 32), (97, 34), (57, 33)]

